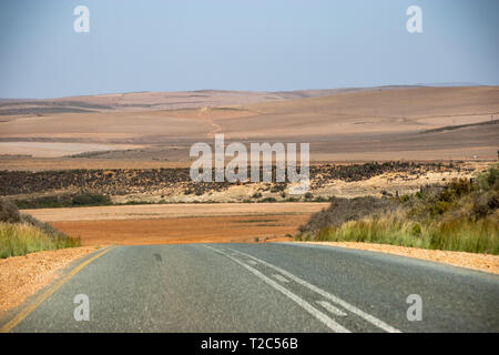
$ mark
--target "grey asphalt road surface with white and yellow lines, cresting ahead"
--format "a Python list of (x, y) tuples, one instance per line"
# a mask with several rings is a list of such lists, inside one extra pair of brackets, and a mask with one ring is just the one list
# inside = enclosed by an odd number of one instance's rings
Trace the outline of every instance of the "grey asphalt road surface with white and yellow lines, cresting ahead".
[[(75, 295), (90, 321), (75, 321)], [(421, 300), (409, 321), (409, 295)], [(288, 243), (119, 246), (12, 332), (499, 332), (499, 276)], [(414, 313), (411, 313), (414, 314)]]

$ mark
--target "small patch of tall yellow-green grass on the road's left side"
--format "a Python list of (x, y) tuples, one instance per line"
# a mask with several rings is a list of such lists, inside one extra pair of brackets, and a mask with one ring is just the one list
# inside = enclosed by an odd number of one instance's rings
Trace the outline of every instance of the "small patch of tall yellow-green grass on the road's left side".
[(80, 245), (80, 239), (51, 235), (28, 223), (0, 222), (0, 258)]

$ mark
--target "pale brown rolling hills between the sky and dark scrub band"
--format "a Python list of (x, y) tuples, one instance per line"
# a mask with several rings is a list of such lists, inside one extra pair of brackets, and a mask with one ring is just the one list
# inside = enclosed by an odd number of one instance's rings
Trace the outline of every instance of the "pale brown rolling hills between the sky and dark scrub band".
[(216, 133), (308, 142), (316, 161), (496, 159), (499, 149), (499, 87), (135, 92), (0, 111), (0, 154), (11, 155), (185, 162)]

